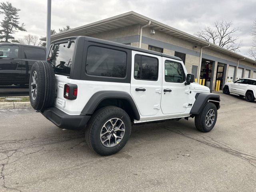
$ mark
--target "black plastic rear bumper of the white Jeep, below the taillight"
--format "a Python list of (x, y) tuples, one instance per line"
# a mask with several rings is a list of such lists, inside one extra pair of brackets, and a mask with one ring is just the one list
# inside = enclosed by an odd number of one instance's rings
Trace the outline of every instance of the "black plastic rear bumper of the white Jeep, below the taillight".
[(56, 107), (51, 107), (42, 113), (48, 120), (62, 129), (82, 130), (89, 121), (89, 115), (68, 115)]

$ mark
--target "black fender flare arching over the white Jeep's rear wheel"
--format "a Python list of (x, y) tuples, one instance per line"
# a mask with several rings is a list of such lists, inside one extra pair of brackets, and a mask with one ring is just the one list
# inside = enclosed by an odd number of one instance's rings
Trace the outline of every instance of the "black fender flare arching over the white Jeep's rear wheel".
[(136, 120), (140, 120), (140, 113), (138, 111), (138, 108), (132, 99), (132, 96), (128, 94), (127, 92), (123, 91), (99, 91), (92, 95), (92, 97), (88, 100), (86, 105), (84, 106), (84, 109), (82, 110), (81, 114), (83, 115), (91, 115), (96, 110), (97, 106), (102, 102), (104, 99), (124, 99), (127, 100), (134, 112), (134, 118)]

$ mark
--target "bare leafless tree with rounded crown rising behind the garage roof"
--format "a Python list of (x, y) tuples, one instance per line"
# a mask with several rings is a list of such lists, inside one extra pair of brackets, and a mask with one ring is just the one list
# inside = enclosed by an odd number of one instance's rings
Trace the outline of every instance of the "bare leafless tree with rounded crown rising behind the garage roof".
[(214, 26), (207, 26), (199, 30), (194, 35), (199, 38), (216, 44), (228, 50), (238, 52), (242, 41), (236, 33), (240, 31), (239, 28), (232, 28), (233, 22), (216, 21)]

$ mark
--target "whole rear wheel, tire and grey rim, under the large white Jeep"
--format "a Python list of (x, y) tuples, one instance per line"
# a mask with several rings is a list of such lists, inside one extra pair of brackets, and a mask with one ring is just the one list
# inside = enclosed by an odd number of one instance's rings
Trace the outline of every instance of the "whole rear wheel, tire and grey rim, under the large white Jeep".
[(90, 118), (85, 131), (86, 142), (94, 152), (102, 156), (112, 155), (125, 146), (131, 129), (130, 117), (124, 110), (104, 107)]

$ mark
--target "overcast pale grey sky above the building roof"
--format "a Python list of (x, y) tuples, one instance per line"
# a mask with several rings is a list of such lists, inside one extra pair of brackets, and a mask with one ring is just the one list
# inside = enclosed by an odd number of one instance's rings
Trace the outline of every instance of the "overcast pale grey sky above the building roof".
[[(26, 34), (46, 36), (47, 0), (9, 0), (20, 8), (20, 23)], [(111, 16), (134, 11), (189, 34), (194, 34), (216, 20), (233, 21), (241, 31), (240, 54), (246, 55), (251, 45), (250, 26), (256, 18), (256, 0), (52, 0), (52, 29), (72, 28)], [(2, 16), (0, 15), (2, 20)]]

